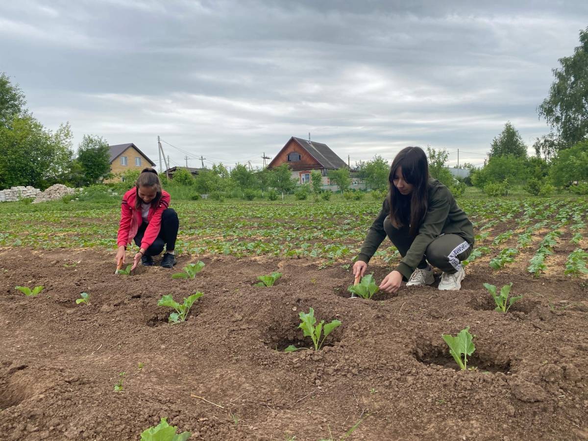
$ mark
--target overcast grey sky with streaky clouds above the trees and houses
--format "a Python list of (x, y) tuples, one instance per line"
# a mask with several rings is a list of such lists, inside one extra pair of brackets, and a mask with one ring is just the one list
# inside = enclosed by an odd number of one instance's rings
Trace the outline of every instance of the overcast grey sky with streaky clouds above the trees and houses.
[(529, 147), (549, 131), (536, 108), (588, 2), (481, 3), (2, 0), (0, 72), (75, 145), (158, 162), (160, 135), (172, 166), (256, 166), (309, 132), (352, 165), (407, 145), (481, 163), (507, 121)]

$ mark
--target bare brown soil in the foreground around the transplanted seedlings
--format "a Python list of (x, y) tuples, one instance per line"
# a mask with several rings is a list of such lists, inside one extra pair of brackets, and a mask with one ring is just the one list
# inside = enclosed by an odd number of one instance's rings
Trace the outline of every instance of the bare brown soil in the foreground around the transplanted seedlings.
[[(165, 416), (206, 440), (588, 439), (586, 278), (473, 262), (459, 292), (363, 300), (347, 298), (340, 265), (202, 260), (195, 279), (172, 280), (159, 267), (115, 276), (99, 250), (0, 251), (0, 438), (138, 440)], [(252, 286), (275, 270), (275, 286)], [(369, 270), (379, 281), (390, 268)], [(484, 282), (524, 299), (497, 313)], [(168, 324), (158, 299), (197, 290), (189, 319)], [(81, 292), (91, 305), (76, 305)], [(276, 350), (311, 345), (297, 329), (309, 307), (343, 323), (328, 346)], [(477, 369), (461, 372), (441, 335), (466, 326)]]

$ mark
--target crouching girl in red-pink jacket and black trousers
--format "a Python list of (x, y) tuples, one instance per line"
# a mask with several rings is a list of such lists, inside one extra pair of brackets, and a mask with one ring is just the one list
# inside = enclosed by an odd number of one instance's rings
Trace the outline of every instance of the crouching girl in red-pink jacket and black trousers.
[(136, 185), (122, 198), (121, 224), (118, 229), (118, 252), (116, 263), (125, 263), (126, 245), (135, 240), (139, 252), (133, 259), (133, 269), (139, 259), (145, 266), (153, 265), (153, 256), (166, 250), (161, 260), (163, 268), (173, 268), (176, 258), (173, 250), (178, 236), (178, 215), (169, 208), (169, 193), (161, 189), (159, 176), (152, 168), (145, 168), (139, 175)]

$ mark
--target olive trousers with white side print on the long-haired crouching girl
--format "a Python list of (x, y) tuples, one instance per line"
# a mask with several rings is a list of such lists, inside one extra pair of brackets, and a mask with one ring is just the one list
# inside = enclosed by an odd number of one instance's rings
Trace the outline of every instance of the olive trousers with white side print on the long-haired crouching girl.
[[(398, 249), (400, 256), (406, 256), (415, 238), (410, 235), (409, 227), (394, 228), (390, 218), (384, 220), (384, 230), (392, 243)], [(429, 266), (427, 261), (443, 272), (453, 274), (460, 268), (460, 262), (467, 259), (472, 252), (472, 245), (456, 234), (444, 234), (438, 236), (427, 246), (425, 255), (420, 260), (417, 268), (424, 269)]]

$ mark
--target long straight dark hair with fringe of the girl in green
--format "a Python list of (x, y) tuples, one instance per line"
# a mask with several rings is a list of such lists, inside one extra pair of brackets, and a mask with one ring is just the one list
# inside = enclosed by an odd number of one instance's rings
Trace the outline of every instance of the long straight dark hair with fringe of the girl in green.
[[(396, 170), (402, 167), (402, 176), (413, 186), (410, 195), (403, 196), (394, 185)], [(403, 148), (392, 161), (388, 192), (390, 221), (395, 228), (410, 225), (410, 235), (416, 236), (420, 223), (427, 213), (429, 190), (429, 163), (427, 155), (420, 147)]]

